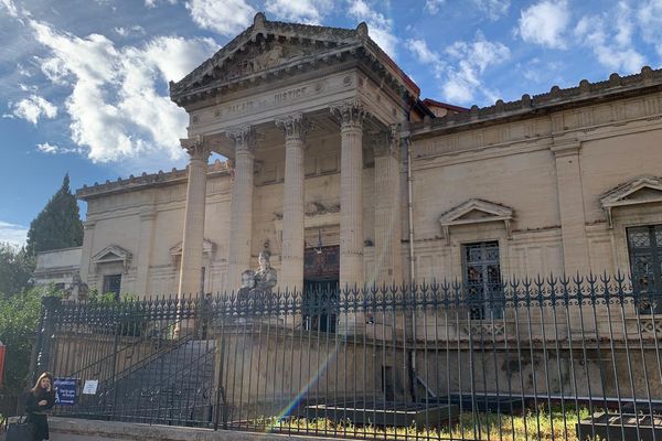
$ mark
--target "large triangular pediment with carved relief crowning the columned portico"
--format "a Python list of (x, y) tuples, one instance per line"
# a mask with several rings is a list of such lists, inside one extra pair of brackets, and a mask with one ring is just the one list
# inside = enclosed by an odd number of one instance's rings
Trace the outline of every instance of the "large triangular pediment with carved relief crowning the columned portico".
[(170, 97), (183, 106), (231, 88), (318, 69), (344, 62), (363, 51), (381, 72), (412, 96), (418, 87), (367, 35), (365, 23), (340, 29), (266, 20), (255, 15), (253, 24), (178, 83), (170, 83)]

